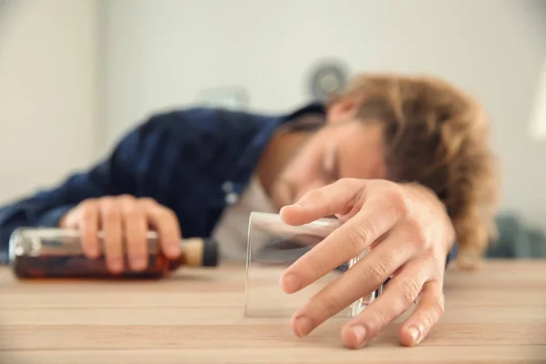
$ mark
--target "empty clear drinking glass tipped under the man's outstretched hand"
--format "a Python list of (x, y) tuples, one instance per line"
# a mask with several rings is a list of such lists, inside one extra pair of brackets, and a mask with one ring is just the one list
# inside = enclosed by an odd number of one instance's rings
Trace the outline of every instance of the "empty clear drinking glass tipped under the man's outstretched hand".
[[(297, 293), (286, 294), (282, 291), (278, 279), (284, 270), (339, 226), (340, 222), (335, 218), (321, 218), (302, 226), (290, 226), (278, 214), (253, 212), (248, 225), (245, 316), (290, 317), (320, 289), (365, 257), (368, 251)], [(337, 316), (359, 314), (379, 295), (380, 290), (360, 298)]]

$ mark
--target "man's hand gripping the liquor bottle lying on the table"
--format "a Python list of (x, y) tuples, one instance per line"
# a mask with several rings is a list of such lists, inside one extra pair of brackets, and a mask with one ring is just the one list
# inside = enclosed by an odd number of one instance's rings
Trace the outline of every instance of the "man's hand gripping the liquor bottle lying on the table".
[(88, 258), (100, 256), (97, 233), (102, 230), (106, 266), (113, 272), (124, 270), (125, 254), (131, 269), (147, 268), (149, 230), (157, 231), (160, 248), (167, 258), (177, 258), (181, 252), (177, 216), (152, 198), (124, 195), (86, 199), (68, 211), (59, 226), (79, 230)]

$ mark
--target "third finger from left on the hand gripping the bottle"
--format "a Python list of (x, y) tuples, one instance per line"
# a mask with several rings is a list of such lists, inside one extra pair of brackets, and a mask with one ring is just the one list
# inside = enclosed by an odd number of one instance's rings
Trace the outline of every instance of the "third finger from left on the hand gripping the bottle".
[(129, 265), (134, 270), (143, 270), (148, 258), (146, 213), (134, 197), (123, 198), (120, 203)]

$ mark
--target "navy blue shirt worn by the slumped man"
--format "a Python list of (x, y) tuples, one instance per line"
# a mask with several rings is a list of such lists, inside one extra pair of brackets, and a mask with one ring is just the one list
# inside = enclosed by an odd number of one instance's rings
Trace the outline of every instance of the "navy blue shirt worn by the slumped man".
[(200, 107), (151, 116), (95, 167), (1, 207), (0, 260), (7, 260), (16, 227), (56, 227), (92, 197), (152, 197), (176, 213), (184, 237), (207, 238), (223, 210), (238, 202), (270, 137), (306, 113), (324, 115), (324, 108), (265, 115)]

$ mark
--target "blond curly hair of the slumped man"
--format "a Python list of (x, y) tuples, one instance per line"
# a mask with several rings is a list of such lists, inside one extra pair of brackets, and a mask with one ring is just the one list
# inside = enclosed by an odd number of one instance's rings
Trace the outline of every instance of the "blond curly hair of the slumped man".
[(459, 245), (458, 263), (475, 268), (497, 238), (497, 158), (478, 101), (431, 76), (362, 74), (333, 100), (359, 102), (359, 119), (385, 125), (390, 180), (417, 182), (440, 198)]

